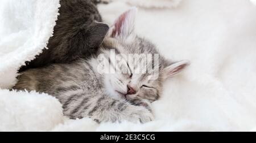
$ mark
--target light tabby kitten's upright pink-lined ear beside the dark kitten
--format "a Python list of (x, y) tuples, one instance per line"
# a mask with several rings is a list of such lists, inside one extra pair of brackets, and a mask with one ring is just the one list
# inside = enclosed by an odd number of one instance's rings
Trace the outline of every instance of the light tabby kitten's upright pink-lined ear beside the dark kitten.
[(114, 25), (110, 28), (109, 36), (114, 38), (121, 38), (125, 40), (134, 32), (135, 16), (138, 9), (136, 7), (124, 12), (115, 20)]

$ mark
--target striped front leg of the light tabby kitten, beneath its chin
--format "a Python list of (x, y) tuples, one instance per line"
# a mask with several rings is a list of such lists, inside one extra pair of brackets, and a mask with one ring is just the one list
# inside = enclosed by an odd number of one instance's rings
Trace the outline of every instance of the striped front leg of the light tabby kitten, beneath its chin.
[(94, 106), (84, 112), (84, 116), (89, 116), (99, 122), (127, 120), (134, 123), (146, 123), (154, 119), (151, 111), (146, 107), (131, 105), (129, 102), (113, 99), (106, 95), (94, 97), (92, 104)]

